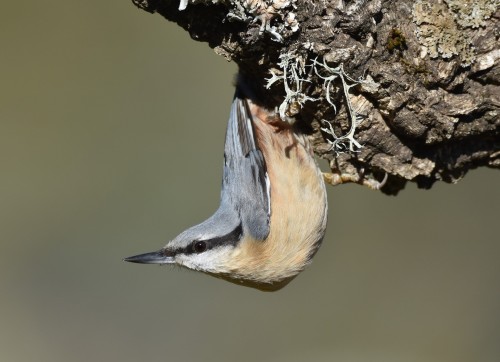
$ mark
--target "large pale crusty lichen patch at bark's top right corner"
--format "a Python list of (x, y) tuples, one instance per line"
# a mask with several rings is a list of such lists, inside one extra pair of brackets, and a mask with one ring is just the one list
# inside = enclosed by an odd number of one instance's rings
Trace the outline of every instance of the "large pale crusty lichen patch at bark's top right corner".
[(462, 66), (468, 66), (474, 61), (471, 29), (484, 26), (498, 5), (499, 0), (417, 0), (417, 39), (431, 58), (456, 55)]

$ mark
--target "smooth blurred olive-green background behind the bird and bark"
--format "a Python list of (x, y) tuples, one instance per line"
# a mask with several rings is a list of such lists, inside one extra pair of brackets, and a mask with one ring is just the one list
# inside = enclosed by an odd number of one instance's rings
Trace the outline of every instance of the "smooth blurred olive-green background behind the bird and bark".
[(277, 293), (124, 263), (216, 209), (236, 67), (130, 1), (5, 2), (0, 44), (0, 361), (500, 360), (498, 171), (329, 187)]

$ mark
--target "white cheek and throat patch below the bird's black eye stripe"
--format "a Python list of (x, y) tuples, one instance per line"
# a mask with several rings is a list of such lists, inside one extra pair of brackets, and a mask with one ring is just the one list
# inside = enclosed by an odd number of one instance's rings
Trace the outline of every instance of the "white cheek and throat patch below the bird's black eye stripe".
[(178, 254), (175, 262), (186, 268), (209, 273), (226, 273), (233, 246), (217, 247), (199, 254)]

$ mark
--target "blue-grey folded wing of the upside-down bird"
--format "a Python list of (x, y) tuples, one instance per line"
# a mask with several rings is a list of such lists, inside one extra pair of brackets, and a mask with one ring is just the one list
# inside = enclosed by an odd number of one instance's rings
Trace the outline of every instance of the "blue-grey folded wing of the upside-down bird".
[[(257, 240), (269, 234), (270, 183), (255, 141), (248, 102), (236, 96), (231, 106), (224, 147), (221, 205), (239, 214), (244, 232)], [(246, 229), (246, 230), (245, 230)]]

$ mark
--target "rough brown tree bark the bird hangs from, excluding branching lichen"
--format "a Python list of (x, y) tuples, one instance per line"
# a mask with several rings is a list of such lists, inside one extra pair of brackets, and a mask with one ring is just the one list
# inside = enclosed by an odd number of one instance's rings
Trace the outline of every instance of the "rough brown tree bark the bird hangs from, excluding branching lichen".
[[(235, 61), (257, 84), (260, 101), (284, 105), (344, 179), (387, 174), (382, 191), (395, 194), (407, 181), (429, 188), (479, 166), (500, 167), (498, 0), (181, 0), (182, 11), (179, 0), (133, 2)], [(280, 81), (265, 86), (272, 73), (283, 75), (286, 55), (307, 81), (302, 98), (284, 104)], [(366, 80), (348, 95), (361, 120), (356, 152), (336, 152), (349, 143), (332, 149), (328, 142), (322, 120), (346, 134), (352, 115), (339, 77), (328, 102), (318, 75), (329, 74), (319, 63)]]

